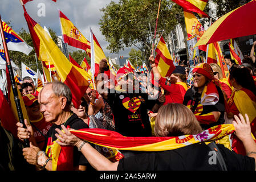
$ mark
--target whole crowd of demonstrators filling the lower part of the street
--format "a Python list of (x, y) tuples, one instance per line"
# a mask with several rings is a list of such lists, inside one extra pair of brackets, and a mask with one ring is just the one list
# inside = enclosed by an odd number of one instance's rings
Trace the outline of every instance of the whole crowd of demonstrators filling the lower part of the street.
[[(22, 152), (5, 162), (0, 160), (0, 169), (255, 170), (255, 59), (246, 57), (237, 65), (225, 56), (229, 78), (224, 78), (218, 64), (200, 63), (192, 71), (193, 85), (187, 81), (190, 68), (186, 61), (169, 77), (161, 76), (153, 55), (149, 61), (154, 81), (149, 74), (120, 68), (116, 85), (98, 76), (96, 88), (88, 87), (78, 108), (72, 104), (70, 88), (62, 82), (36, 89), (32, 78), (23, 78), (18, 89), (29, 121), (25, 119), (26, 127), (17, 123), (19, 139), (15, 139), (20, 146), (15, 151)], [(98, 75), (107, 69), (107, 60), (101, 60)], [(211, 142), (224, 159), (216, 165), (209, 164), (212, 148), (204, 142), (174, 150), (135, 152), (92, 144), (70, 132), (99, 128), (125, 137), (179, 137), (226, 123), (234, 125), (235, 133), (227, 136), (229, 147)], [(8, 131), (1, 130), (2, 139), (2, 133)], [(29, 139), (30, 147), (22, 146), (25, 139)], [(63, 163), (52, 157), (58, 145), (69, 154), (58, 157)]]

